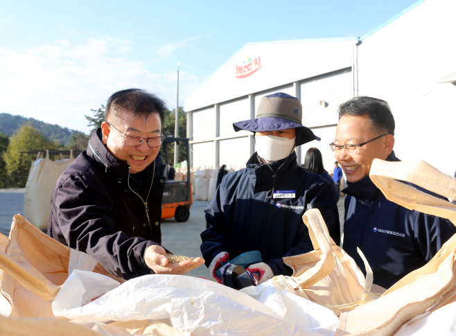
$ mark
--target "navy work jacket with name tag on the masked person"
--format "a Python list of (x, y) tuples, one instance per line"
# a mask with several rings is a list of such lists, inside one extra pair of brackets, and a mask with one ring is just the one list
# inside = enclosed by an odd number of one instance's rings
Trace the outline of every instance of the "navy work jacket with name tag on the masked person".
[(291, 275), (292, 269), (282, 258), (313, 250), (302, 220), (308, 206), (321, 211), (331, 237), (337, 244), (340, 241), (331, 184), (300, 168), (295, 152), (270, 166), (277, 173), (274, 190), (292, 190), (296, 197), (268, 198), (273, 173), (267, 164), (258, 162), (256, 153), (247, 168), (225, 175), (204, 211), (207, 229), (201, 233), (201, 251), (206, 265), (222, 251), (233, 259), (243, 252), (259, 250), (274, 275)]

